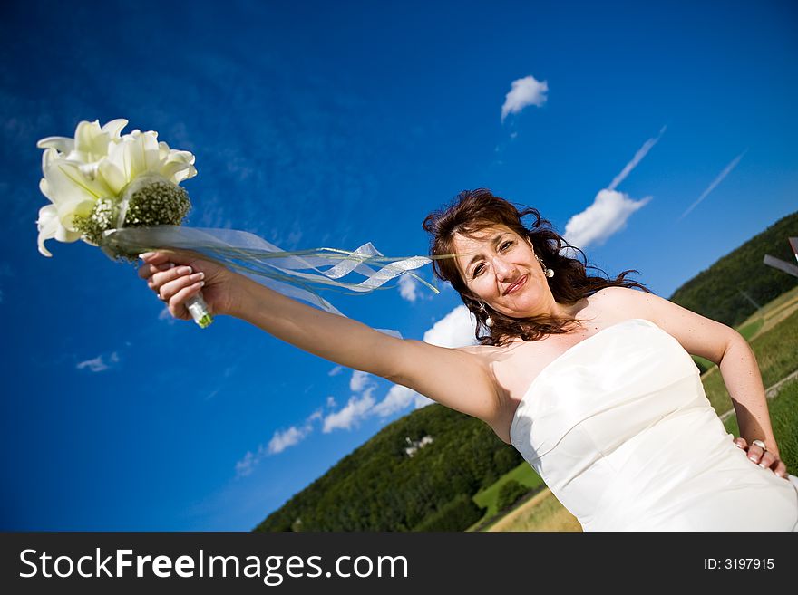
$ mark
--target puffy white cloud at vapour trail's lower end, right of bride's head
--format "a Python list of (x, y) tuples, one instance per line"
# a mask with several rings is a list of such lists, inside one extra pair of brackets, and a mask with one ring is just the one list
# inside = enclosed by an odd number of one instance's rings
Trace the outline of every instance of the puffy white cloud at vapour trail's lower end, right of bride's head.
[(602, 245), (610, 235), (626, 227), (629, 216), (650, 200), (645, 197), (636, 201), (617, 190), (601, 190), (592, 205), (569, 219), (565, 239), (583, 250), (590, 244)]

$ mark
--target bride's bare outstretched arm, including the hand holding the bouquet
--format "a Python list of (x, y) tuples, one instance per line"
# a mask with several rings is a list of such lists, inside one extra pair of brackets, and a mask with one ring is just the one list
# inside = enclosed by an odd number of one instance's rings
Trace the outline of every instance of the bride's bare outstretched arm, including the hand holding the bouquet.
[(139, 276), (169, 303), (175, 318), (190, 320), (185, 302), (202, 291), (212, 314), (248, 321), (301, 350), (389, 379), (487, 423), (500, 415), (492, 370), (468, 350), (392, 337), (297, 302), (198, 254), (159, 251), (141, 258)]

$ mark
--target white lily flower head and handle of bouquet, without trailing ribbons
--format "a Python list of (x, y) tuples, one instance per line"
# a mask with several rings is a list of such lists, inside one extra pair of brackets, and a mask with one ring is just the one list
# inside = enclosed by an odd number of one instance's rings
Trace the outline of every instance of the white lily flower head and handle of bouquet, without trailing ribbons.
[[(128, 120), (82, 121), (74, 139), (48, 137), (39, 183), (51, 205), (39, 210), (39, 252), (52, 256), (44, 241), (82, 239), (102, 246), (112, 259), (135, 262), (122, 246), (103, 245), (105, 235), (123, 227), (180, 226), (191, 207), (180, 182), (197, 175), (189, 151), (170, 149), (158, 133), (133, 130), (120, 134)], [(207, 327), (212, 318), (201, 295), (187, 302), (192, 318)]]

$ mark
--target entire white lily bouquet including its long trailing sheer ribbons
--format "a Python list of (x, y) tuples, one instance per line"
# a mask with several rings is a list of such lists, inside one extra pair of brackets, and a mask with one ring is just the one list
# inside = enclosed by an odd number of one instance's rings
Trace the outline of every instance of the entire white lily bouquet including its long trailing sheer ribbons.
[[(189, 151), (170, 149), (155, 131), (122, 134), (128, 120), (82, 121), (74, 138), (48, 137), (38, 142), (44, 149), (39, 185), (52, 204), (39, 210), (39, 252), (52, 256), (48, 239), (83, 240), (99, 246), (112, 260), (135, 263), (138, 254), (159, 249), (192, 250), (218, 264), (263, 283), (289, 297), (312, 302), (343, 316), (316, 288), (372, 292), (400, 274), (410, 274), (439, 293), (412, 269), (431, 262), (423, 256), (386, 257), (371, 243), (354, 252), (315, 248), (286, 252), (257, 235), (232, 229), (181, 226), (191, 203), (180, 182), (197, 175)], [(368, 264), (378, 264), (375, 270)], [(318, 267), (329, 265), (321, 270)], [(363, 274), (359, 283), (340, 279)], [(208, 307), (197, 294), (187, 302), (201, 328), (212, 321)], [(380, 329), (393, 335), (396, 331)]]

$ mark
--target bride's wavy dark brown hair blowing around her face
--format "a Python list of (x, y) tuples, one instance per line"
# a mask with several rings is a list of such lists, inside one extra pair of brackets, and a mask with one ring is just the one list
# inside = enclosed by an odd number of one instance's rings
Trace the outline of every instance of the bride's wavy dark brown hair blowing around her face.
[[(535, 216), (530, 228), (521, 222), (521, 218), (527, 215)], [(433, 235), (430, 241), (430, 257), (433, 259), (435, 276), (452, 283), (453, 288), (460, 293), (462, 302), (477, 319), (474, 334), (482, 345), (501, 347), (515, 337), (521, 337), (524, 341), (538, 341), (547, 334), (569, 331), (566, 327), (572, 323), (579, 324), (573, 318), (560, 319), (547, 315), (512, 318), (487, 305), (487, 312), (482, 311), (482, 302), (468, 289), (454, 261), (453, 240), (455, 234), (472, 237), (474, 233), (488, 226), (499, 224), (509, 227), (522, 238), (529, 238), (535, 254), (540, 256), (543, 264), (556, 271), (549, 279), (549, 288), (556, 302), (571, 305), (605, 287), (637, 287), (651, 293), (642, 283), (624, 279), (629, 273), (639, 274), (635, 269), (624, 271), (614, 281), (608, 277), (587, 274), (587, 269), (592, 268), (607, 275), (598, 267), (587, 264), (585, 253), (576, 246), (569, 245), (565, 238), (554, 231), (550, 221), (540, 216), (537, 209), (522, 206), (519, 211), (504, 198), (494, 197), (486, 188), (463, 190), (453, 198), (449, 206), (426, 216), (423, 228)], [(561, 255), (563, 246), (579, 251), (582, 260)], [(493, 320), (492, 327), (485, 324), (487, 315)], [(489, 334), (481, 335), (482, 330)]]

